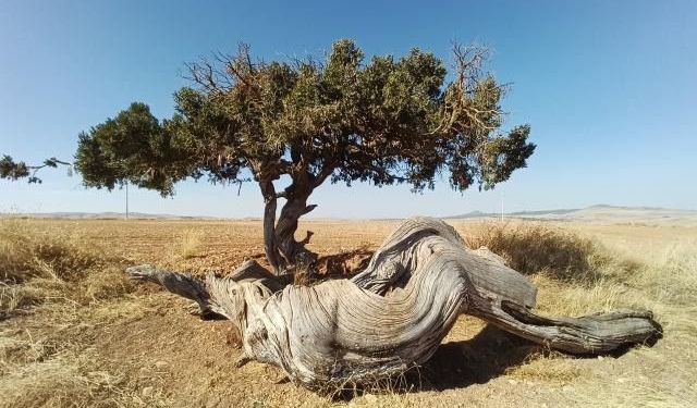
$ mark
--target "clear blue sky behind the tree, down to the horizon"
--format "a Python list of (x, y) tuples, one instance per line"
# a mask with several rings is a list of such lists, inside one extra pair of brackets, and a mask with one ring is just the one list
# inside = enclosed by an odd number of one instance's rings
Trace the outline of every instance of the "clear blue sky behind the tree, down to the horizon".
[[(71, 159), (77, 134), (131, 101), (160, 118), (186, 85), (184, 62), (252, 45), (266, 60), (321, 55), (339, 38), (367, 54), (450, 42), (491, 48), (513, 83), (508, 125), (531, 125), (528, 168), (493, 191), (447, 183), (323, 185), (314, 217), (448, 215), (595, 203), (697, 209), (697, 2), (694, 1), (29, 1), (0, 2), (0, 153)], [(301, 3), (301, 2), (297, 2)], [(78, 176), (0, 181), (0, 212), (122, 211), (124, 191)], [(185, 182), (173, 199), (131, 190), (139, 212), (259, 217), (261, 198)]]

